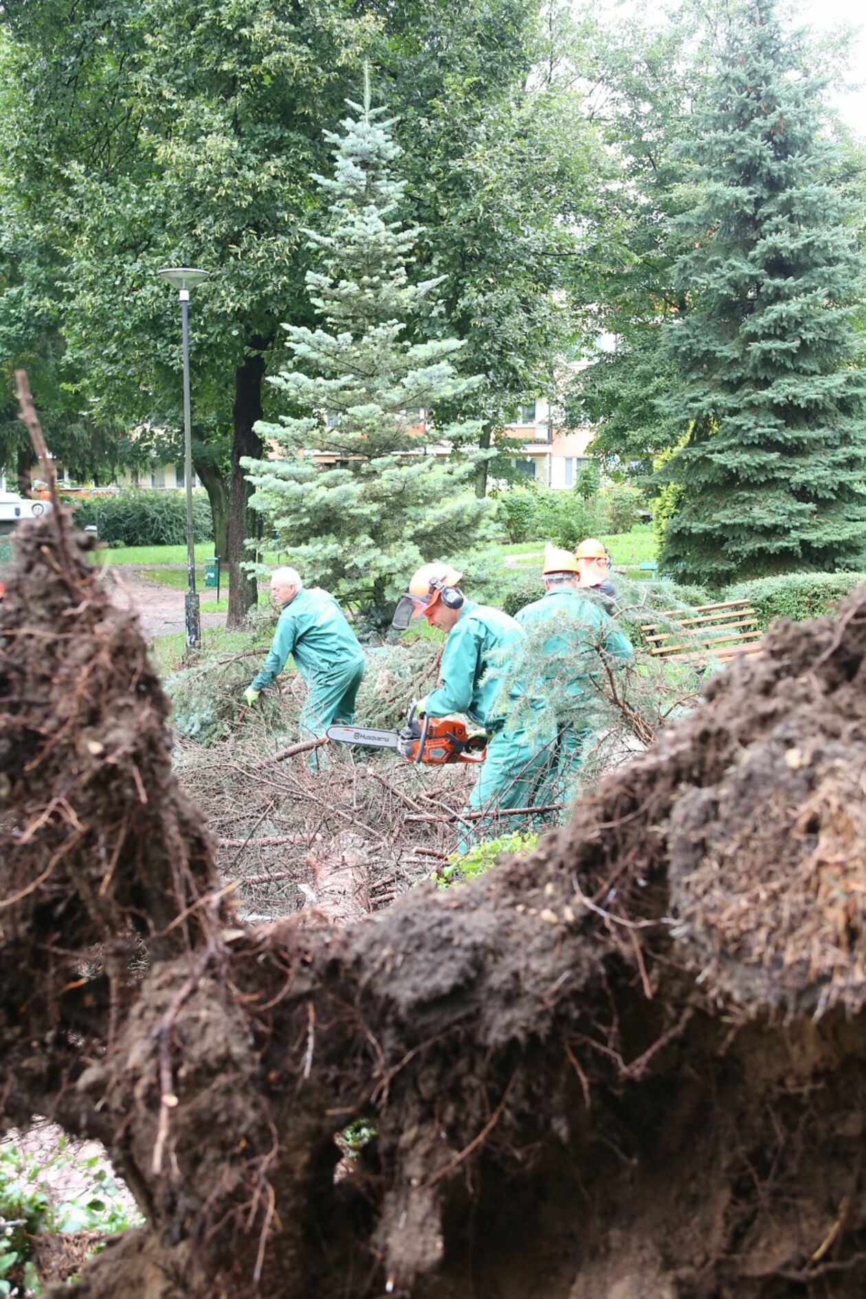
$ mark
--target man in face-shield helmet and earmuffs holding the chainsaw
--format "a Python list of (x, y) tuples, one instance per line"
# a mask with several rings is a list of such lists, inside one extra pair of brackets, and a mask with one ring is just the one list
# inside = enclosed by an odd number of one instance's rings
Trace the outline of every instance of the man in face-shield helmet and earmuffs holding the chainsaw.
[[(479, 773), (469, 807), (476, 811), (531, 807), (542, 782), (547, 743), (553, 734), (540, 727), (538, 735), (525, 729), (506, 729), (506, 713), (520, 699), (523, 687), (512, 686), (503, 695), (502, 683), (490, 668), (505, 665), (520, 651), (524, 634), (502, 609), (476, 604), (460, 590), (463, 574), (450, 564), (424, 564), (408, 585), (394, 613), (393, 626), (404, 630), (424, 616), (430, 626), (447, 633), (440, 675), (442, 685), (419, 700), (419, 713), (447, 717), (466, 713), (488, 733), (486, 756)], [(516, 818), (510, 829), (519, 829)], [(525, 825), (525, 821), (523, 821)], [(475, 839), (490, 838), (492, 825), (479, 818), (473, 831), (459, 844), (466, 852)]]

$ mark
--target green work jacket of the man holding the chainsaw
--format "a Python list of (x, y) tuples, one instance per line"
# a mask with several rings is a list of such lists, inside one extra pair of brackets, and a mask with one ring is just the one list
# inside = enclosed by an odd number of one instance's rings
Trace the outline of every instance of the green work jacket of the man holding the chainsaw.
[[(506, 700), (498, 699), (502, 687), (499, 677), (488, 677), (490, 655), (494, 650), (510, 648), (514, 659), (523, 639), (518, 624), (502, 609), (467, 600), (445, 642), (440, 669), (442, 685), (426, 696), (424, 712), (430, 717), (466, 713), (479, 726), (498, 730), (505, 721)], [(506, 659), (503, 653), (502, 660)], [(506, 668), (510, 664), (497, 661), (493, 666)], [(508, 699), (519, 699), (520, 694), (520, 687), (514, 686)]]

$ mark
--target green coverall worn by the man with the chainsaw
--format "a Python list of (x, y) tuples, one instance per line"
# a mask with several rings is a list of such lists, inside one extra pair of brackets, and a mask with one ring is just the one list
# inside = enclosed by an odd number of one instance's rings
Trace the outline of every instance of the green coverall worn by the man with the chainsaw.
[[(511, 648), (516, 655), (521, 640), (523, 631), (507, 613), (466, 600), (445, 642), (442, 685), (419, 705), (430, 717), (466, 713), (488, 731), (486, 757), (469, 795), (469, 807), (473, 811), (490, 809), (492, 817), (498, 808), (529, 807), (537, 801), (533, 795), (544, 778), (546, 742), (553, 738), (541, 735), (531, 739), (525, 730), (505, 730), (506, 701), (498, 699), (502, 682), (486, 674), (494, 650)], [(511, 700), (520, 695), (520, 686), (508, 691)], [(467, 852), (476, 839), (490, 838), (493, 820), (480, 817), (471, 825), (471, 830), (467, 827), (463, 831), (459, 852)], [(519, 830), (528, 825), (527, 817), (512, 817), (507, 829)]]

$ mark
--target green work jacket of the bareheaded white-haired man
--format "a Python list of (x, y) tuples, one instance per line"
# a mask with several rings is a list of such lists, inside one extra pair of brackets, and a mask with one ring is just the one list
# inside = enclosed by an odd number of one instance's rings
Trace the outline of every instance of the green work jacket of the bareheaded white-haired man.
[(252, 688), (269, 686), (285, 668), (289, 655), (294, 656), (307, 685), (316, 677), (364, 662), (364, 651), (343, 611), (333, 595), (319, 587), (311, 591), (302, 587), (289, 604), (283, 604), (268, 657), (254, 677)]

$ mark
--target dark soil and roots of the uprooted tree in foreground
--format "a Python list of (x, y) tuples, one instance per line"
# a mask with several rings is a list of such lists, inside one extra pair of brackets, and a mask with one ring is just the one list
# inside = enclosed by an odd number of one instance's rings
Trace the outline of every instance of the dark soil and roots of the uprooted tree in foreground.
[(532, 857), (246, 929), (79, 546), (30, 530), (0, 614), (3, 1118), (101, 1139), (148, 1220), (72, 1294), (863, 1294), (866, 591)]

